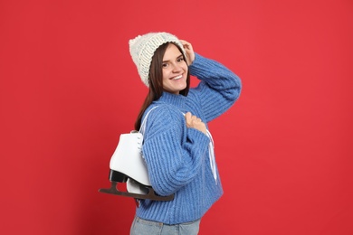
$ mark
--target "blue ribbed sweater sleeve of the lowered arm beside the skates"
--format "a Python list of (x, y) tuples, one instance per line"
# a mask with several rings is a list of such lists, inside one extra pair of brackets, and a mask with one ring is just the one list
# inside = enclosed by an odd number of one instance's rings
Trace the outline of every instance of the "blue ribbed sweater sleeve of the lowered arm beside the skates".
[(143, 155), (149, 180), (158, 194), (170, 195), (199, 173), (209, 139), (194, 128), (186, 128), (183, 115), (172, 108), (157, 108), (148, 119)]

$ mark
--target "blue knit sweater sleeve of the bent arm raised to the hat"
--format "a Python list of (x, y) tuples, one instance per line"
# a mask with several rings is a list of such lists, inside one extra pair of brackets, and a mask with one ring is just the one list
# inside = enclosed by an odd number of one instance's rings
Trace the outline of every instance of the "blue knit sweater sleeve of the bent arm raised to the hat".
[(191, 75), (201, 80), (193, 95), (201, 103), (207, 122), (223, 114), (239, 98), (241, 80), (223, 64), (196, 53), (189, 70)]

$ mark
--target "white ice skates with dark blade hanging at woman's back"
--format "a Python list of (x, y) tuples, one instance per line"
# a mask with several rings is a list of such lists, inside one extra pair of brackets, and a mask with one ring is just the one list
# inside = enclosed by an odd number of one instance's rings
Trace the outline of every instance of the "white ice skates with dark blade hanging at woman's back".
[[(119, 144), (110, 158), (110, 188), (100, 189), (100, 193), (155, 201), (174, 199), (174, 194), (159, 196), (153, 190), (148, 178), (147, 165), (141, 156), (142, 141), (143, 136), (139, 132), (120, 135)], [(127, 183), (127, 192), (119, 191), (118, 183)]]

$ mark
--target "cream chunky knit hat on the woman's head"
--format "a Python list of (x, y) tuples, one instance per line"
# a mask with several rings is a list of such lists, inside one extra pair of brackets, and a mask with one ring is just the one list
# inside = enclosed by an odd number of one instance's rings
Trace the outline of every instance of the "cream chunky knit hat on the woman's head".
[(175, 42), (186, 57), (183, 45), (175, 35), (170, 33), (147, 33), (138, 35), (136, 38), (129, 41), (129, 51), (132, 61), (134, 61), (138, 67), (139, 77), (141, 77), (142, 82), (145, 83), (147, 87), (149, 87), (148, 75), (152, 57), (157, 48), (166, 42)]

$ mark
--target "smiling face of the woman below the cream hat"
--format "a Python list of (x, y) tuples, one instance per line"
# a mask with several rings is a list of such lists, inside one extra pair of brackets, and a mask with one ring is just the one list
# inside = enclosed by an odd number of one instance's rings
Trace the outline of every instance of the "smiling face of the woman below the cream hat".
[(162, 62), (163, 89), (173, 94), (186, 89), (187, 70), (183, 54), (175, 44), (169, 43)]

